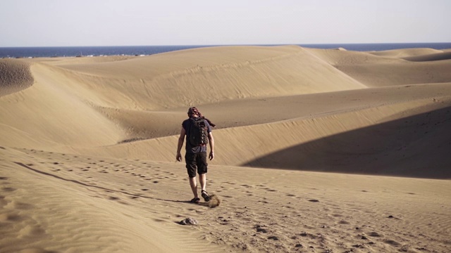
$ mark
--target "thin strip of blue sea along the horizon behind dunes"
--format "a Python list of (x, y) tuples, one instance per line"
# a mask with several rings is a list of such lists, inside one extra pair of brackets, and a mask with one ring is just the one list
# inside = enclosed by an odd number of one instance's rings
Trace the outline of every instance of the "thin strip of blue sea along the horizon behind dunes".
[[(0, 58), (73, 57), (73, 56), (148, 56), (199, 46), (57, 46), (57, 47), (0, 47)], [(214, 45), (219, 46), (219, 45)], [(246, 45), (252, 46), (252, 45)], [(280, 46), (280, 45), (254, 45)], [(350, 51), (384, 51), (400, 48), (451, 48), (451, 43), (396, 43), (396, 44), (298, 44), (308, 48), (345, 48)]]

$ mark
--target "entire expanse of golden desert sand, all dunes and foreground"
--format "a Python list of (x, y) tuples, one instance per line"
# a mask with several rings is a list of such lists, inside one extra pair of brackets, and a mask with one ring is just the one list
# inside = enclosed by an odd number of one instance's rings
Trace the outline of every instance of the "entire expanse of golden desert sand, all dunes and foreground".
[[(0, 59), (0, 252), (451, 252), (450, 52)], [(190, 106), (219, 207), (175, 162)]]

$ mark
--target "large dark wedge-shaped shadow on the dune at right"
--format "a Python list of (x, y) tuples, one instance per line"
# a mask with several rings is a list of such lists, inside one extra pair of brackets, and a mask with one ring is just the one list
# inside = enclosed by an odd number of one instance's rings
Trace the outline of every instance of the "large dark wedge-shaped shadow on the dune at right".
[(451, 179), (451, 107), (295, 145), (243, 166)]

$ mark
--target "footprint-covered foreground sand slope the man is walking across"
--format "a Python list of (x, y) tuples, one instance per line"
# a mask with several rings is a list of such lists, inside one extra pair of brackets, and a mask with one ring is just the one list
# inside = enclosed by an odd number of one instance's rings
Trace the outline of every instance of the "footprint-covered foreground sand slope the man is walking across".
[[(1, 252), (449, 252), (449, 181), (0, 149)], [(187, 217), (198, 226), (181, 226)]]

